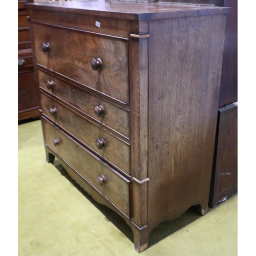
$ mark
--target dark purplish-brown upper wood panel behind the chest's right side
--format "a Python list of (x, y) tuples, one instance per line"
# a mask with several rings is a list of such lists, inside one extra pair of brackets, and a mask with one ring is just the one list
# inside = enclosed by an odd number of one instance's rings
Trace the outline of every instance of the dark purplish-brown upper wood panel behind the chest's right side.
[(238, 1), (224, 0), (227, 15), (219, 108), (238, 100)]

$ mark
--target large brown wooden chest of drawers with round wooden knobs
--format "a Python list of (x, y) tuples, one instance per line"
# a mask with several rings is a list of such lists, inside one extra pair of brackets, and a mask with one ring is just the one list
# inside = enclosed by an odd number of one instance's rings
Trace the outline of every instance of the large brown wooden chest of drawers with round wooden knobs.
[(47, 161), (134, 232), (207, 212), (228, 8), (27, 4)]

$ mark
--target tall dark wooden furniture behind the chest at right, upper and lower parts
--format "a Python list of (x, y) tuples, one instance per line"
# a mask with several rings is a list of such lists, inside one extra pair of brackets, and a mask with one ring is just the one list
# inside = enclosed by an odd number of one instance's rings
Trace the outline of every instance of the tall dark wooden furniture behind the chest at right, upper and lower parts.
[(238, 191), (238, 1), (223, 0), (227, 15), (215, 158), (209, 205), (216, 207)]

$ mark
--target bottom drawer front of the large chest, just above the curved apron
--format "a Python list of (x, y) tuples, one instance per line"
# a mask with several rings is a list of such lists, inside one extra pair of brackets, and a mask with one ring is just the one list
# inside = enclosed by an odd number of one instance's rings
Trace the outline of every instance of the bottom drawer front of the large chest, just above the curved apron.
[[(42, 118), (42, 126), (44, 127), (46, 145), (129, 217), (129, 186), (131, 181), (118, 174), (108, 164), (101, 161), (44, 118)], [(53, 139), (58, 139), (59, 144), (54, 146)], [(102, 179), (101, 176), (104, 176), (106, 182), (100, 186), (97, 178)]]

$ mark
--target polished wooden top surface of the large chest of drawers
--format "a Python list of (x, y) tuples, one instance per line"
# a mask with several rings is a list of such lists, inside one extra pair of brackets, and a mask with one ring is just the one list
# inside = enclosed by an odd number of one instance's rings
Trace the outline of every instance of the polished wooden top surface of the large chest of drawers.
[(110, 0), (29, 3), (27, 8), (97, 15), (132, 20), (225, 14), (230, 8), (164, 3), (134, 3)]

